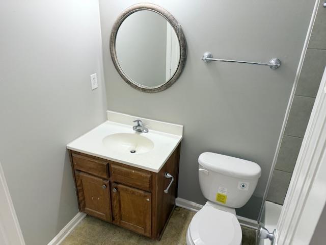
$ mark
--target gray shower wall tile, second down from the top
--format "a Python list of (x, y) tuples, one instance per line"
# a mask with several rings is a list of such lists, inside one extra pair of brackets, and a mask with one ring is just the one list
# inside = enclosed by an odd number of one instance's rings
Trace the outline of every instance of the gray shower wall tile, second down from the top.
[[(326, 39), (324, 39), (324, 42), (326, 42)], [(326, 50), (308, 49), (295, 94), (316, 97), (325, 65)]]

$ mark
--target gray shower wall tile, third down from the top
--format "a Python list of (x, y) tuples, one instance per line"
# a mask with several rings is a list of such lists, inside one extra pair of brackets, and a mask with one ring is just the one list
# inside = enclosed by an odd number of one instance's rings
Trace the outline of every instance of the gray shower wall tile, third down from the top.
[(304, 137), (314, 102), (315, 99), (311, 97), (294, 96), (285, 135)]

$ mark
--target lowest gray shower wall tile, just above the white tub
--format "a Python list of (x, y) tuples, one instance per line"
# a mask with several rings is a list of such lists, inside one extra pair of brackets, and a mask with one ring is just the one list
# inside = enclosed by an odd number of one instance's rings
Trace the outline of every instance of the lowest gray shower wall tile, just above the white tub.
[(268, 190), (267, 201), (283, 205), (292, 174), (274, 170)]

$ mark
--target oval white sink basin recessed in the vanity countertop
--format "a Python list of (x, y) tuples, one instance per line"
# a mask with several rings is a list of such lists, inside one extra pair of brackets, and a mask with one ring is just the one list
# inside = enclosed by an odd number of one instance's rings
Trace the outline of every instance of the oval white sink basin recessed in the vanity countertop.
[(129, 154), (142, 154), (153, 150), (152, 140), (138, 133), (117, 133), (103, 138), (103, 144), (106, 148)]

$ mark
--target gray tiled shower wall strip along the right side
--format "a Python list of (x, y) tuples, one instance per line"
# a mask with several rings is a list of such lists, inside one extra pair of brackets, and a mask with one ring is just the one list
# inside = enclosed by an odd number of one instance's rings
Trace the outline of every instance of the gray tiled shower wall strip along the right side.
[(295, 89), (267, 200), (283, 205), (326, 65), (326, 9), (321, 0)]

